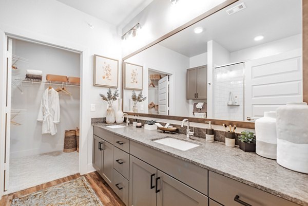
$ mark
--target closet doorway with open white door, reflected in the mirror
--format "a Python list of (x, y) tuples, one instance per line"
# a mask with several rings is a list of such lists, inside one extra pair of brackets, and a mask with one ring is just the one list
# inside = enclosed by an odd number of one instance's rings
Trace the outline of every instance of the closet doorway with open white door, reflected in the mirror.
[(148, 71), (148, 114), (169, 115), (169, 75)]

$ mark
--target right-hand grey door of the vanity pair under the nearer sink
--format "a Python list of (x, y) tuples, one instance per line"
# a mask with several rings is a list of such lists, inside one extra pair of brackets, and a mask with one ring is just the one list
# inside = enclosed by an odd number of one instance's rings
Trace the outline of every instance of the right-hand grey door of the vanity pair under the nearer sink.
[[(158, 170), (157, 206), (204, 206), (207, 197)], [(194, 177), (187, 177), (194, 178)], [(206, 178), (206, 177), (204, 177)]]

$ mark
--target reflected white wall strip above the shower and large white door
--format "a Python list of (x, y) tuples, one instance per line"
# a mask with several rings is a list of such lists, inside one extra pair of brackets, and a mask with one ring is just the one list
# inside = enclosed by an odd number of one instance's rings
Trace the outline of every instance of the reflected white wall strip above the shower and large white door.
[(302, 34), (230, 53), (230, 62), (241, 62), (302, 48)]

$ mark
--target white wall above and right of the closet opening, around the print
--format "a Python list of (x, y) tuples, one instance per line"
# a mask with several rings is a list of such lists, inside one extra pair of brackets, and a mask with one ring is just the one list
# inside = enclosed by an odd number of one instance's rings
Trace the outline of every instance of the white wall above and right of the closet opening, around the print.
[[(92, 23), (94, 29), (89, 28), (87, 23)], [(93, 54), (121, 59), (121, 44), (116, 27), (55, 0), (2, 0), (1, 30), (83, 52), (81, 150), (87, 151), (87, 154), (82, 151), (80, 153), (80, 172), (84, 174), (93, 170), (90, 119), (104, 117), (107, 108), (99, 97), (99, 93), (105, 93), (107, 88), (92, 86)], [(119, 80), (120, 87), (121, 75)], [(97, 111), (90, 112), (91, 103), (96, 104)]]

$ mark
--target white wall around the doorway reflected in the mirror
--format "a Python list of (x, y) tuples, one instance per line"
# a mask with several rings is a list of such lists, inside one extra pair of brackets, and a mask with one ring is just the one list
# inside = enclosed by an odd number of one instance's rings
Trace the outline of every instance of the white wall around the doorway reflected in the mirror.
[[(189, 104), (186, 100), (186, 69), (189, 67), (189, 58), (167, 49), (159, 44), (152, 46), (133, 57), (126, 62), (143, 66), (143, 90), (145, 97), (148, 96), (148, 69), (172, 74), (170, 76), (171, 87), (169, 95), (170, 115), (188, 116)], [(129, 111), (129, 100), (131, 99), (132, 90), (124, 90), (124, 111)], [(137, 91), (138, 93), (139, 91)], [(143, 102), (144, 110), (139, 112), (147, 113), (148, 99)], [(173, 105), (173, 106), (172, 106)]]

